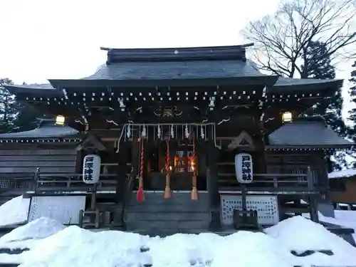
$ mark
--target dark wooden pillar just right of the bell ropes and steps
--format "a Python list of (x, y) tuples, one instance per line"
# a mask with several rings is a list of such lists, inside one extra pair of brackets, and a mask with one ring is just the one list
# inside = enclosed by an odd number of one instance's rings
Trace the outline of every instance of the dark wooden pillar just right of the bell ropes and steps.
[(214, 140), (208, 141), (208, 164), (209, 169), (206, 172), (208, 184), (209, 205), (210, 205), (210, 230), (218, 231), (221, 228), (221, 203), (218, 183), (218, 152), (214, 145)]

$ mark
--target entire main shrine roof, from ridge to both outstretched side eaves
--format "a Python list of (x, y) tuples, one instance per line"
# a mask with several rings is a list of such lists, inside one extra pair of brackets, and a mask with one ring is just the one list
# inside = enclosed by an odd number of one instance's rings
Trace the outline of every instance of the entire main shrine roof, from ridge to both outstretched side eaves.
[[(150, 87), (179, 84), (206, 85), (261, 84), (267, 93), (292, 93), (294, 90), (325, 90), (342, 84), (341, 80), (278, 78), (259, 72), (246, 60), (246, 47), (215, 46), (196, 48), (102, 48), (108, 51), (107, 63), (86, 78), (50, 80), (54, 88)], [(257, 79), (259, 78), (259, 79)], [(41, 96), (63, 95), (50, 84), (8, 85), (11, 93), (41, 92)], [(41, 89), (41, 91), (39, 91)]]

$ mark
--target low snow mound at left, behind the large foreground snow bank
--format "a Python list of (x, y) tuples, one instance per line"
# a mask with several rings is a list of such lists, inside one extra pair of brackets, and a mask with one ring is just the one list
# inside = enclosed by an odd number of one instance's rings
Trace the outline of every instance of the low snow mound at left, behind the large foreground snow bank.
[(20, 226), (9, 234), (0, 238), (0, 242), (24, 241), (28, 239), (43, 239), (45, 237), (56, 234), (58, 231), (65, 229), (66, 226), (46, 217), (41, 217), (35, 221)]

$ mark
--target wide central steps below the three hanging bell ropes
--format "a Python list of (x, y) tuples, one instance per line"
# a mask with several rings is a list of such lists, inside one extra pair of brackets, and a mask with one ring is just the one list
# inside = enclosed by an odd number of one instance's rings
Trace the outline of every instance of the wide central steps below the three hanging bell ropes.
[(190, 192), (175, 192), (164, 199), (162, 192), (145, 192), (145, 201), (132, 193), (125, 216), (127, 231), (140, 234), (168, 235), (199, 233), (209, 229), (208, 194), (201, 192), (192, 200)]

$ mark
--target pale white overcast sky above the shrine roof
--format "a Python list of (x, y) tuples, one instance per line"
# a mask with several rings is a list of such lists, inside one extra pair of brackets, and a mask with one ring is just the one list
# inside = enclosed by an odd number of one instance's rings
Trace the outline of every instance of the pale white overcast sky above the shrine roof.
[[(0, 0), (0, 77), (15, 83), (82, 78), (114, 48), (244, 43), (248, 20), (278, 0)], [(348, 78), (350, 68), (340, 68)], [(346, 96), (346, 91), (344, 95)], [(350, 108), (345, 101), (347, 111)]]

